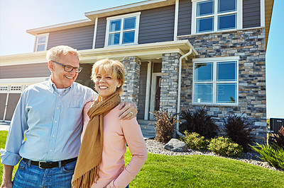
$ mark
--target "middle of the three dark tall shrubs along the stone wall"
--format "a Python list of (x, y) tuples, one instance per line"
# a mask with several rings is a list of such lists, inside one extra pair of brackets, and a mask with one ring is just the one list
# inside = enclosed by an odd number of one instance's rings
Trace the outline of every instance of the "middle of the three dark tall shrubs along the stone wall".
[(185, 119), (182, 126), (187, 131), (196, 132), (206, 139), (217, 136), (217, 125), (212, 116), (208, 115), (203, 108), (197, 110), (193, 115), (189, 110), (182, 111), (182, 119)]

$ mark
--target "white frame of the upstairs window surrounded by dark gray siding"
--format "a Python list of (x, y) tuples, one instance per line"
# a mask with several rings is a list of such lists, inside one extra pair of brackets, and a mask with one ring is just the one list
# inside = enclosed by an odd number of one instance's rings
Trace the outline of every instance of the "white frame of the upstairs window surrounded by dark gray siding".
[[(138, 33), (139, 33), (139, 23), (140, 23), (140, 15), (141, 12), (137, 13), (129, 13), (129, 14), (124, 14), (121, 16), (112, 16), (107, 18), (107, 30), (106, 30), (106, 37), (105, 37), (105, 42), (104, 42), (104, 47), (115, 47), (115, 46), (124, 46), (124, 45), (138, 45)], [(121, 21), (121, 30), (120, 30), (120, 39), (119, 39), (119, 45), (109, 45), (109, 23), (111, 20), (124, 20), (124, 18), (130, 18), (136, 16), (136, 27), (135, 27), (135, 35), (134, 35), (134, 42), (133, 43), (128, 43), (128, 44), (122, 44), (122, 37), (123, 37), (123, 24), (124, 21)]]

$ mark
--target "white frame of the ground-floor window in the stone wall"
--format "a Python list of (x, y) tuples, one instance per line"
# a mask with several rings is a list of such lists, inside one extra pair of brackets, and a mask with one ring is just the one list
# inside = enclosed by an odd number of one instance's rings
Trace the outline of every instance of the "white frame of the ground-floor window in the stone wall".
[[(221, 105), (221, 106), (238, 106), (239, 105), (239, 57), (212, 57), (212, 58), (200, 58), (192, 59), (193, 61), (193, 77), (192, 77), (192, 105)], [(224, 81), (224, 83), (236, 83), (236, 103), (218, 102), (217, 103), (217, 62), (222, 61), (236, 61), (236, 81)], [(209, 63), (213, 62), (213, 81), (209, 81), (213, 84), (212, 88), (212, 102), (194, 102), (195, 98), (195, 83), (205, 83), (195, 81), (195, 64), (196, 63)]]

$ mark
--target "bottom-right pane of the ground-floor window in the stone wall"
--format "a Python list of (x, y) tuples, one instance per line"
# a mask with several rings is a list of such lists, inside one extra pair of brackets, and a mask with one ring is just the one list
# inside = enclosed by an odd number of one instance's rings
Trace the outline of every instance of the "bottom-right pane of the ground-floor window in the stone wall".
[(236, 83), (217, 83), (217, 102), (236, 103)]

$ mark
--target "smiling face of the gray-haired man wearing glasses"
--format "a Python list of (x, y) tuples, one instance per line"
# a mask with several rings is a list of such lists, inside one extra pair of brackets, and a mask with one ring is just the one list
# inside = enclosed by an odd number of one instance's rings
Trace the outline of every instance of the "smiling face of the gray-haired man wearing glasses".
[[(73, 67), (79, 67), (79, 59), (76, 55), (67, 54), (61, 55), (58, 63), (64, 65), (70, 65)], [(71, 72), (64, 70), (64, 67), (55, 64), (53, 61), (48, 61), (48, 68), (51, 71), (51, 81), (55, 83), (56, 88), (68, 88), (76, 80), (78, 73), (73, 69)]]

